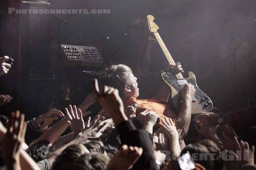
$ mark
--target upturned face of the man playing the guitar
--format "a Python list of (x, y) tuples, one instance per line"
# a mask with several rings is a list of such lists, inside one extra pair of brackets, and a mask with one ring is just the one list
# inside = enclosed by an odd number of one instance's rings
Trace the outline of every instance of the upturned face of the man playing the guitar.
[(126, 97), (138, 97), (139, 96), (139, 88), (137, 83), (137, 78), (134, 77), (133, 74), (130, 75), (130, 83), (127, 85), (129, 88), (128, 91), (125, 90), (125, 96)]

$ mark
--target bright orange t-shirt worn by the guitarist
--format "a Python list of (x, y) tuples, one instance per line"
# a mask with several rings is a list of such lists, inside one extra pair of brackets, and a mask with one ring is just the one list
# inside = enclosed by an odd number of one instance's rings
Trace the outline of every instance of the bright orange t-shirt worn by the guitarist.
[(136, 109), (136, 115), (145, 110), (150, 110), (159, 114), (160, 118), (164, 118), (166, 116), (175, 120), (177, 117), (176, 114), (172, 111), (169, 103), (154, 99), (136, 99), (135, 97), (130, 97), (129, 99), (125, 100), (124, 107), (127, 108), (128, 106), (135, 103), (140, 104), (140, 106), (138, 106)]

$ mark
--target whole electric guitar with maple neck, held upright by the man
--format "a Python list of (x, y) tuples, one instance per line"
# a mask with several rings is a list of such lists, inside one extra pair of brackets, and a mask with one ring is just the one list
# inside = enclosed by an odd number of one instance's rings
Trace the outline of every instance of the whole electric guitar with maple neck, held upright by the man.
[[(169, 64), (175, 65), (175, 61), (173, 60), (171, 54), (169, 53), (166, 45), (164, 44), (162, 38), (160, 37), (157, 30), (159, 27), (156, 23), (153, 22), (154, 17), (152, 15), (147, 15), (148, 21), (148, 29), (157, 39), (163, 53), (165, 54), (166, 59), (168, 60)], [(209, 112), (212, 110), (213, 105), (211, 99), (203, 92), (198, 85), (196, 84), (195, 74), (189, 71), (189, 77), (183, 78), (181, 73), (174, 73), (174, 72), (162, 72), (161, 79), (163, 82), (169, 87), (171, 91), (171, 103), (173, 110), (178, 113), (181, 109), (182, 105), (182, 96), (181, 96), (181, 89), (186, 83), (191, 83), (195, 86), (195, 95), (192, 97), (192, 109), (191, 114), (197, 114), (201, 111)]]

